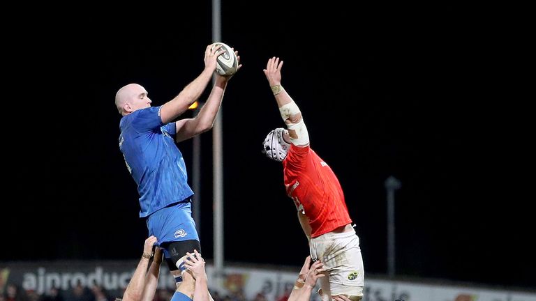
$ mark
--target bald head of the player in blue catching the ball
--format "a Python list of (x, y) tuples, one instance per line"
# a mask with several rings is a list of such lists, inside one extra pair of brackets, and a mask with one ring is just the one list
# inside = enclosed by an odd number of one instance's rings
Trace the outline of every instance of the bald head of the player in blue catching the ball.
[(151, 107), (151, 99), (144, 87), (139, 84), (128, 84), (115, 94), (115, 106), (119, 114), (125, 116), (138, 109)]

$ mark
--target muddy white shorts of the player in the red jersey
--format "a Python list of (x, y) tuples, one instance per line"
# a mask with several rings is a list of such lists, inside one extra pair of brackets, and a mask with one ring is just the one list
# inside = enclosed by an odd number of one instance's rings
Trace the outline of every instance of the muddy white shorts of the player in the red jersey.
[(311, 258), (324, 263), (327, 274), (320, 278), (322, 300), (332, 300), (332, 295), (363, 295), (365, 272), (355, 230), (311, 238), (310, 249)]

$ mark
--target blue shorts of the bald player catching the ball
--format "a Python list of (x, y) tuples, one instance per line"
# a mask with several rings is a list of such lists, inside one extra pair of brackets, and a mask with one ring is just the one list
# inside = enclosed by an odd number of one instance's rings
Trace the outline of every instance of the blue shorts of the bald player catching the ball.
[[(162, 208), (147, 217), (149, 236), (156, 236), (160, 246), (165, 242), (198, 240), (198, 231), (192, 217), (190, 201)], [(166, 253), (166, 252), (164, 252)], [(168, 254), (165, 254), (168, 257)]]

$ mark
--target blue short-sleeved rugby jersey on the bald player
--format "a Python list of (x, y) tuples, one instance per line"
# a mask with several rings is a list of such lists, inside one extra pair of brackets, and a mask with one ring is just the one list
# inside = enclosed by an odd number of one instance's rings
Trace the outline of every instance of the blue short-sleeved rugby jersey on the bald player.
[(164, 125), (161, 107), (121, 118), (119, 148), (140, 194), (140, 217), (193, 196), (186, 165), (175, 144), (175, 123)]

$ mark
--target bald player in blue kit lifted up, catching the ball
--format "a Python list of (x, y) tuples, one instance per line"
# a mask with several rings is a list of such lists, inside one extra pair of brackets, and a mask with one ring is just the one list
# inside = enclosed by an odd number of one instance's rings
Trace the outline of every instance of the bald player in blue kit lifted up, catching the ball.
[[(208, 45), (201, 74), (160, 107), (151, 107), (147, 91), (139, 84), (124, 86), (115, 96), (115, 105), (123, 116), (119, 123), (119, 148), (137, 184), (140, 217), (147, 222), (149, 236), (158, 238), (156, 245), (164, 249), (177, 284), (184, 281), (192, 287), (193, 277), (183, 273), (185, 254), (201, 248), (191, 211), (193, 191), (175, 143), (206, 132), (214, 125), (230, 79), (214, 72), (216, 59), (223, 53), (220, 48), (211, 49)], [(213, 75), (216, 76), (214, 86), (198, 116), (174, 122), (200, 98)]]

